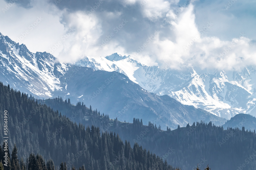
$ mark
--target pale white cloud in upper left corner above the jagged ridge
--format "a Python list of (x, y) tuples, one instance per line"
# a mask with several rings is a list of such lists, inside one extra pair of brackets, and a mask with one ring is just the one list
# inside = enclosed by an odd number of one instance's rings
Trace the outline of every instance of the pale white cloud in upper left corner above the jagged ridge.
[[(0, 6), (5, 7), (8, 3), (1, 0)], [(13, 41), (24, 43), (32, 52), (49, 51), (58, 37), (65, 32), (64, 26), (59, 22), (61, 11), (53, 6), (35, 5), (33, 8), (25, 9), (12, 4), (3, 13), (0, 12), (0, 32), (9, 36)], [(5, 8), (4, 8), (5, 9)], [(54, 15), (49, 11), (59, 11)], [(57, 14), (58, 13), (58, 14)], [(41, 18), (39, 22), (38, 17)]]

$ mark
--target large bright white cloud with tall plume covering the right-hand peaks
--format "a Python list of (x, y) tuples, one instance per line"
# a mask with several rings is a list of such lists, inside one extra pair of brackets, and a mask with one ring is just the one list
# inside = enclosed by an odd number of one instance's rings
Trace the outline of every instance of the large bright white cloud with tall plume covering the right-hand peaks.
[[(256, 64), (256, 48), (243, 33), (231, 41), (223, 41), (218, 37), (204, 36), (195, 23), (194, 5), (190, 4), (182, 13), (174, 17), (171, 13), (174, 40), (157, 37), (149, 49), (140, 55), (157, 56), (162, 67), (183, 69), (196, 66), (202, 69), (239, 69)], [(206, 29), (213, 25), (207, 22)], [(204, 30), (202, 30), (204, 31)], [(200, 34), (201, 33), (201, 34)], [(161, 40), (162, 39), (162, 40)]]

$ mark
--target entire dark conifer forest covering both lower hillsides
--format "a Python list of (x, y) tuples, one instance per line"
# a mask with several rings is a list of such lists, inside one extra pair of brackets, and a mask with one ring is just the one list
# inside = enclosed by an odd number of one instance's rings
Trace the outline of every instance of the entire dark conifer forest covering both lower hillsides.
[(12, 162), (20, 169), (186, 170), (197, 165), (204, 169), (208, 164), (212, 169), (256, 167), (255, 132), (244, 128), (223, 129), (201, 121), (162, 130), (151, 122), (143, 125), (142, 119), (134, 118), (132, 123), (110, 119), (91, 106), (80, 102), (73, 105), (61, 97), (36, 100), (2, 83), (0, 94), (1, 119), (8, 110), (10, 168)]

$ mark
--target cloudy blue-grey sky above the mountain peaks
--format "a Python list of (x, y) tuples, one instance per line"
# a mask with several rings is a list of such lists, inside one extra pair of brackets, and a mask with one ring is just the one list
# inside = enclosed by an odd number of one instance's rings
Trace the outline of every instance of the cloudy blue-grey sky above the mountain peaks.
[(131, 55), (180, 70), (256, 64), (256, 0), (0, 0), (0, 32), (61, 62)]

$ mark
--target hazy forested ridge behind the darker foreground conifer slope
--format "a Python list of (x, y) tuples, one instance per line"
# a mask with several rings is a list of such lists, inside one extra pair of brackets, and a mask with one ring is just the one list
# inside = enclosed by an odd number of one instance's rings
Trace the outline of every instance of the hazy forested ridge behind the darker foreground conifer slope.
[[(195, 168), (197, 163), (202, 167), (207, 164), (212, 169), (237, 169), (243, 163), (246, 169), (254, 169), (254, 159), (248, 161), (248, 157), (254, 154), (256, 149), (255, 133), (248, 132), (242, 126), (247, 122), (241, 120), (238, 128), (223, 128), (215, 126), (211, 122), (196, 122), (179, 127), (175, 130), (161, 129), (155, 122), (144, 122), (142, 119), (134, 119), (133, 122), (120, 122), (110, 119), (105, 113), (99, 113), (90, 106), (78, 102), (76, 106), (62, 98), (39, 100), (47, 103), (54, 109), (61, 110), (63, 114), (74, 121), (85, 125), (98, 126), (100, 130), (118, 133), (123, 141), (129, 140), (131, 145), (137, 142), (142, 147), (150, 149), (153, 153), (162, 156), (163, 160), (173, 166), (182, 169)], [(92, 114), (91, 114), (92, 113)], [(72, 118), (73, 117), (73, 118)], [(239, 123), (238, 123), (239, 124)], [(242, 129), (242, 130), (241, 130)]]

